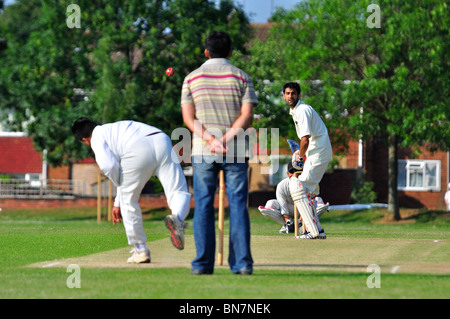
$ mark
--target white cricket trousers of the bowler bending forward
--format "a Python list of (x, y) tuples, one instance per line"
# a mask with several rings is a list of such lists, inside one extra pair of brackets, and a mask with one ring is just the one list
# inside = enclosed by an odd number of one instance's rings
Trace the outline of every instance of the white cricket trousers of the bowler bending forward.
[(178, 157), (166, 134), (145, 136), (128, 145), (120, 159), (120, 166), (120, 211), (128, 244), (143, 244), (147, 240), (139, 198), (152, 176), (157, 176), (161, 182), (172, 214), (181, 221), (187, 217), (191, 194)]

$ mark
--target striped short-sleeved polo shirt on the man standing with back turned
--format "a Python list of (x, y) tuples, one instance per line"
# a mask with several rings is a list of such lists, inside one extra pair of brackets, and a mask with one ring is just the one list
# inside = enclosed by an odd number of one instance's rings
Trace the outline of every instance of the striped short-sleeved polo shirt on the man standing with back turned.
[[(243, 103), (258, 103), (255, 89), (248, 74), (228, 59), (209, 59), (184, 79), (181, 104), (195, 105), (196, 119), (213, 135), (226, 133)], [(193, 135), (192, 155), (205, 154), (206, 142)]]

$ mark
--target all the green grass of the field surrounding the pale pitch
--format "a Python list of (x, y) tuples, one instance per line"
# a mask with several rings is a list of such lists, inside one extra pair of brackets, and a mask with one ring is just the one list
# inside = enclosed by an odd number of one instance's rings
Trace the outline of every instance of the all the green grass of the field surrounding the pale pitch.
[[(327, 235), (339, 238), (410, 238), (448, 241), (450, 218), (444, 212), (417, 212), (410, 223), (383, 224), (384, 210), (332, 211), (321, 219)], [(420, 214), (419, 214), (420, 213)], [(167, 237), (166, 210), (144, 213), (149, 241)], [(252, 235), (277, 235), (279, 226), (250, 210)], [(192, 220), (189, 220), (192, 226)], [(187, 229), (192, 235), (192, 227)], [(95, 209), (0, 212), (0, 298), (449, 298), (450, 276), (383, 273), (381, 288), (369, 289), (369, 273), (339, 270), (255, 269), (236, 276), (226, 268), (213, 276), (192, 276), (185, 268), (86, 268), (82, 287), (69, 289), (64, 268), (25, 265), (126, 247), (122, 225), (96, 222)], [(324, 242), (326, 244), (326, 241)], [(280, 256), (282, 258), (282, 256)], [(449, 252), (437, 263), (449, 264)]]

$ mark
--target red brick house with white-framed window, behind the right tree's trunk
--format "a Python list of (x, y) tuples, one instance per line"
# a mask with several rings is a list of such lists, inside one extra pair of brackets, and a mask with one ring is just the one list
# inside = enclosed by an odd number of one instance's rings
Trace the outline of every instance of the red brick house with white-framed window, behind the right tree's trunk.
[[(366, 174), (366, 179), (374, 182), (377, 202), (388, 202), (388, 150), (382, 140), (371, 138), (362, 143), (351, 140), (339, 169), (327, 173), (322, 182), (323, 194), (330, 203), (341, 204), (337, 198), (339, 189), (348, 203), (358, 167)], [(362, 152), (361, 152), (362, 150)], [(444, 196), (449, 176), (449, 152), (428, 151), (426, 143), (420, 153), (413, 155), (410, 149), (398, 151), (398, 199), (403, 208), (444, 209)], [(358, 163), (359, 162), (359, 163)]]

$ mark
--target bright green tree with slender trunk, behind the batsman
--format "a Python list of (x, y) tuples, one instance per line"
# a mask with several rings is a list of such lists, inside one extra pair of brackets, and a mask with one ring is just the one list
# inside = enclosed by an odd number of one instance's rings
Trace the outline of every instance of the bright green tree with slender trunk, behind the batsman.
[(450, 148), (448, 8), (437, 0), (377, 3), (310, 0), (279, 9), (265, 46), (251, 49), (251, 64), (259, 68), (254, 52), (262, 50), (272, 61), (261, 76), (278, 90), (280, 82), (300, 81), (332, 137), (384, 138), (389, 211), (400, 219), (397, 148), (423, 141)]

